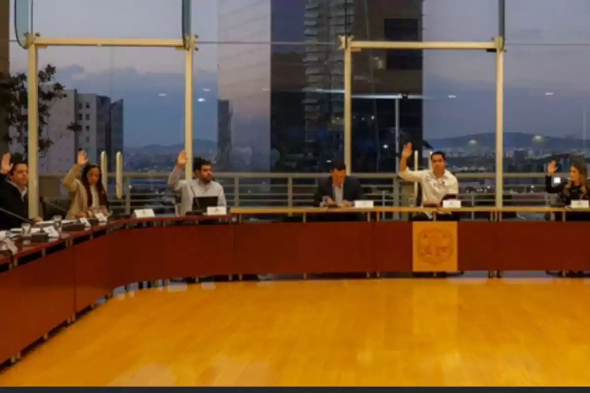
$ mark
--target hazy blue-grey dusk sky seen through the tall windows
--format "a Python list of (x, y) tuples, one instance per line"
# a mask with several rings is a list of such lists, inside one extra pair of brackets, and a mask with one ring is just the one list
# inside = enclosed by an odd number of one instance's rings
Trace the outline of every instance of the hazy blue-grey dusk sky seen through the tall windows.
[[(211, 42), (199, 45), (194, 68), (195, 98), (205, 98), (195, 100), (195, 136), (209, 140), (217, 138), (216, 2), (193, 0), (191, 18), (199, 40)], [(176, 38), (180, 4), (34, 0), (34, 31), (45, 37)], [(497, 22), (496, 0), (424, 2), (427, 41), (487, 41), (497, 34)], [(506, 132), (583, 136), (583, 113), (590, 105), (589, 22), (588, 0), (507, 0)], [(25, 70), (26, 61), (26, 51), (12, 44), (12, 71)], [(40, 50), (40, 66), (48, 62), (57, 66), (67, 88), (124, 98), (126, 146), (182, 142), (182, 51), (54, 47)], [(425, 52), (424, 95), (430, 98), (424, 107), (425, 138), (493, 132), (495, 75), (494, 54)]]

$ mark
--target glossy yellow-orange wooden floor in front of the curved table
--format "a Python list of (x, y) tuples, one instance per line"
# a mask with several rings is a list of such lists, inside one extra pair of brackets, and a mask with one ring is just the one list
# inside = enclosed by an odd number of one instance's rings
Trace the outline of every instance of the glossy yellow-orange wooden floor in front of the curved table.
[(0, 374), (0, 386), (587, 386), (588, 284), (373, 279), (145, 290), (38, 346)]

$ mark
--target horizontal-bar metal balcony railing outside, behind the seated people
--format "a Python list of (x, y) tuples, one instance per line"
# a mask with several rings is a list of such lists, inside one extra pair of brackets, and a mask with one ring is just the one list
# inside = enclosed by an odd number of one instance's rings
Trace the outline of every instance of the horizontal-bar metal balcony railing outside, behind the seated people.
[[(167, 186), (169, 173), (127, 172), (123, 174), (123, 198), (114, 198), (114, 174), (109, 174), (109, 200), (112, 209), (130, 213), (150, 208), (156, 213), (174, 213), (178, 196)], [(230, 206), (309, 206), (317, 180), (324, 173), (218, 173)], [(398, 179), (394, 173), (354, 174), (362, 183), (367, 199), (378, 206), (412, 206), (415, 186)], [(458, 173), (461, 199), (466, 206), (495, 204), (494, 173)], [(50, 199), (67, 197), (61, 187), (63, 175), (40, 177), (40, 194)], [(545, 192), (543, 173), (504, 174), (504, 203), (517, 206), (541, 206), (551, 202)]]

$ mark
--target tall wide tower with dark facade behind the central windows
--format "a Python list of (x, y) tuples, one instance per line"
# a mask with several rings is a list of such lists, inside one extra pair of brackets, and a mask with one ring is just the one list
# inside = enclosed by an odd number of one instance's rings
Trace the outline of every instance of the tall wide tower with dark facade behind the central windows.
[[(220, 0), (218, 28), (220, 41), (250, 42), (220, 45), (218, 59), (232, 144), (253, 149), (250, 170), (325, 170), (343, 158), (339, 35), (420, 41), (422, 0)], [(353, 170), (395, 168), (394, 94), (422, 94), (421, 51), (353, 54)], [(420, 151), (422, 102), (399, 104), (402, 142)]]

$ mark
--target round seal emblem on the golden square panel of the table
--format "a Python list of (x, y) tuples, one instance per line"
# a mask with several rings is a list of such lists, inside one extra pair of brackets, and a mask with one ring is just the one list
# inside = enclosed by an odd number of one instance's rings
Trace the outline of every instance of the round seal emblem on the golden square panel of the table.
[(454, 253), (453, 233), (445, 228), (428, 228), (418, 232), (416, 251), (422, 261), (430, 265), (448, 262)]

